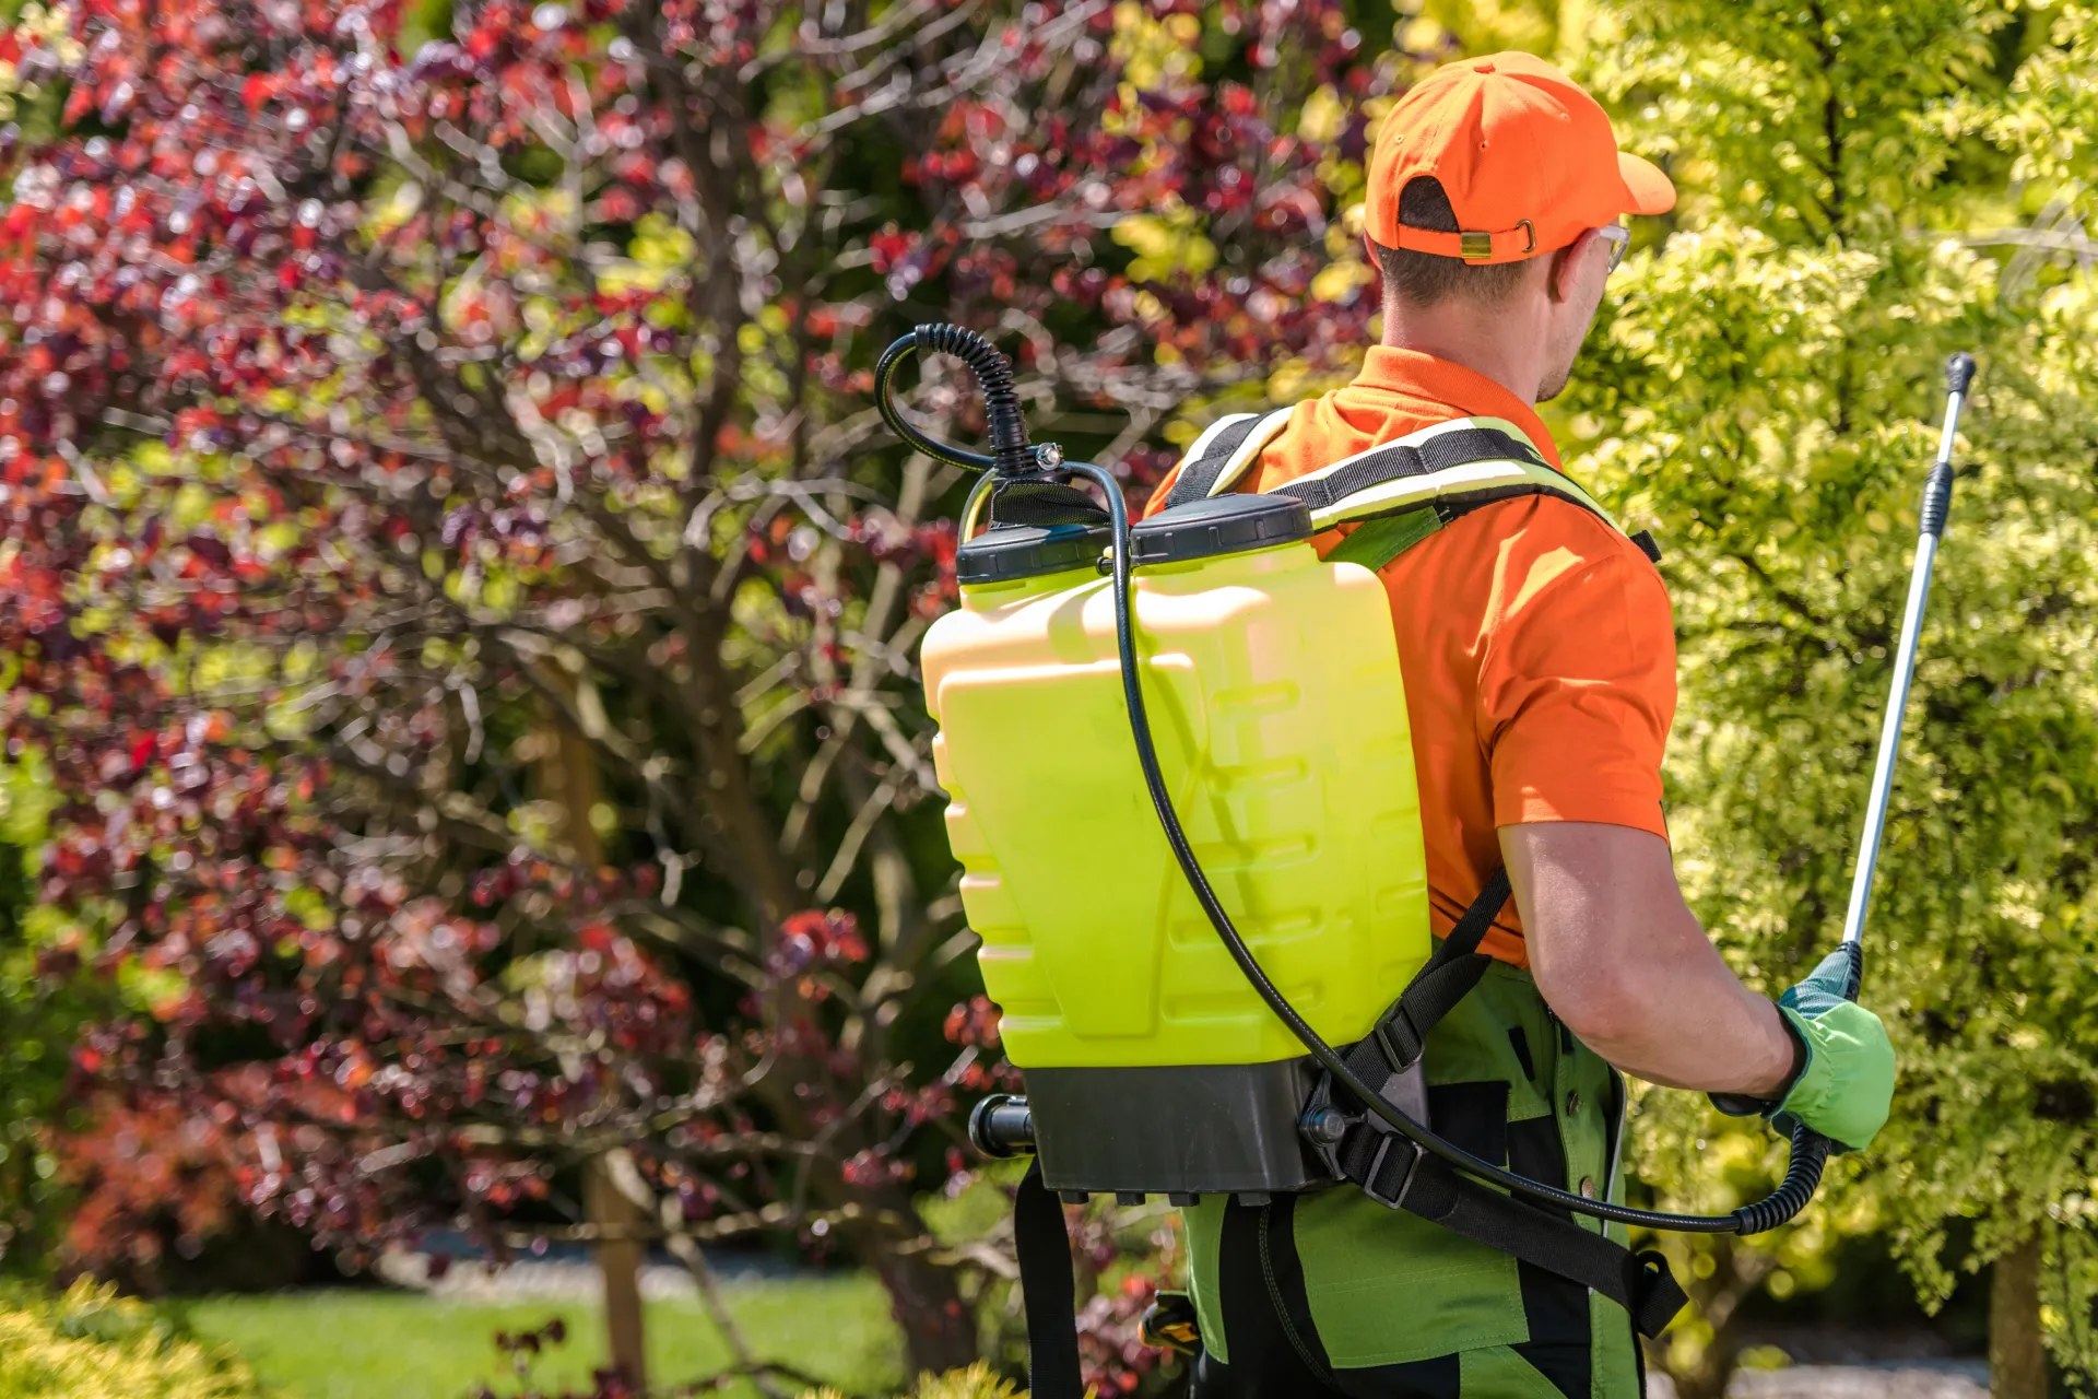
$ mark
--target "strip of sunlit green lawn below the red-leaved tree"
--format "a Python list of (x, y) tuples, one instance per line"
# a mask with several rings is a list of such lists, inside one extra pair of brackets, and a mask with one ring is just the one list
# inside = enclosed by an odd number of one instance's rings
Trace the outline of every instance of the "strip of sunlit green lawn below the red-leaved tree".
[[(902, 1374), (887, 1298), (871, 1277), (726, 1284), (730, 1311), (762, 1359), (795, 1365), (848, 1391), (894, 1386)], [(596, 1305), (566, 1300), (466, 1303), (415, 1292), (325, 1290), (216, 1296), (189, 1307), (197, 1336), (254, 1365), (283, 1399), (466, 1399), (489, 1384), (524, 1386), (495, 1351), (495, 1332), (562, 1317), (569, 1342), (531, 1372), (531, 1386), (583, 1389), (604, 1363)], [(697, 1300), (648, 1305), (650, 1384), (715, 1374), (728, 1347)], [(755, 1395), (751, 1389), (724, 1391)]]

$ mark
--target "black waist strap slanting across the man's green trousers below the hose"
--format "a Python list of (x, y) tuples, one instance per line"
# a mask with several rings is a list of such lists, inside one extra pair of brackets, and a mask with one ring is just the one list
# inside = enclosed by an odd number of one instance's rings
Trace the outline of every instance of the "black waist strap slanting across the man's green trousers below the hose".
[(1347, 1179), (1370, 1198), (1594, 1288), (1632, 1313), (1641, 1336), (1660, 1336), (1689, 1303), (1662, 1254), (1632, 1252), (1571, 1219), (1467, 1181), (1404, 1137), (1362, 1124), (1349, 1131), (1339, 1156)]

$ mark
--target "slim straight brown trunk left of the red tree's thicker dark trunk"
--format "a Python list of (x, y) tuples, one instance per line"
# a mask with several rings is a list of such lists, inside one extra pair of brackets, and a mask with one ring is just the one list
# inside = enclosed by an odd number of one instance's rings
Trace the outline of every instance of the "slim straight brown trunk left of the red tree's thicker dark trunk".
[[(539, 747), (539, 797), (562, 814), (562, 839), (575, 852), (577, 875), (590, 879), (604, 862), (604, 845), (590, 810), (598, 805), (598, 753), (590, 738), (548, 715)], [(594, 1225), (613, 1229), (646, 1223), (642, 1208), (613, 1183), (611, 1162), (583, 1166), (583, 1214)], [(640, 1240), (608, 1240), (596, 1246), (598, 1277), (604, 1282), (604, 1344), (606, 1355), (636, 1391), (648, 1386), (648, 1361), (642, 1330), (642, 1244)]]

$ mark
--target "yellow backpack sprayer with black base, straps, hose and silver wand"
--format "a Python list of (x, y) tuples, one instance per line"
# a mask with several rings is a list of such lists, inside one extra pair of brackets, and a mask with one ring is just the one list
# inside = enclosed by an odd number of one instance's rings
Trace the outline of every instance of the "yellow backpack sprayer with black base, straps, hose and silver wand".
[[(990, 455), (938, 443), (898, 411), (896, 371), (921, 350), (976, 373)], [(1972, 378), (1974, 359), (1951, 357), (1842, 935), (1853, 1000)], [(969, 1139), (988, 1156), (1036, 1156), (1018, 1210), (1041, 1393), (1078, 1393), (1074, 1342), (1043, 1357), (1049, 1311), (1070, 1313), (1068, 1254), (1062, 1286), (1041, 1286), (1028, 1263), (1030, 1237), (1036, 1254), (1062, 1237), (1047, 1191), (1263, 1202), (1353, 1181), (1613, 1296), (1649, 1336), (1683, 1305), (1660, 1254), (1634, 1256), (1523, 1202), (1683, 1233), (1760, 1233), (1806, 1206), (1832, 1143), (1804, 1124), (1767, 1198), (1668, 1214), (1527, 1179), (1420, 1120), (1422, 1042), (1483, 973), (1477, 944), (1508, 891), (1496, 875), (1431, 950), (1404, 686), (1374, 568), (1511, 495), (1603, 514), (1513, 424), (1460, 419), (1271, 493), (1232, 493), (1288, 411), (1225, 419), (1190, 449), (1173, 503), (1131, 524), (1110, 472), (1066, 461), (1055, 443), (1030, 447), (1011, 365), (973, 331), (921, 325), (896, 340), (875, 396), (904, 443), (982, 472), (961, 520), (963, 608), (927, 633), (923, 669), (963, 904), (1007, 1053), (1028, 1078), (1028, 1097), (976, 1107)], [(1106, 510), (1072, 478), (1091, 480)], [(1349, 520), (1360, 529), (1320, 560), (1311, 535)], [(1236, 891), (1236, 919), (1208, 870)], [(1194, 931), (1202, 923), (1215, 942)], [(1397, 1003), (1393, 984), (1406, 984)]]

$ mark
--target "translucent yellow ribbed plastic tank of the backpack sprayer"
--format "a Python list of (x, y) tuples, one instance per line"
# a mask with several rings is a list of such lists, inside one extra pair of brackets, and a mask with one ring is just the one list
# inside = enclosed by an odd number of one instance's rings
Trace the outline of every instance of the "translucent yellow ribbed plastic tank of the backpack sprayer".
[[(1429, 956), (1414, 751), (1383, 583), (1309, 543), (1137, 571), (1158, 757), (1202, 868), (1330, 1042)], [(1232, 963), (1143, 791), (1093, 571), (965, 587), (925, 636), (961, 902), (1020, 1068), (1303, 1055)]]

